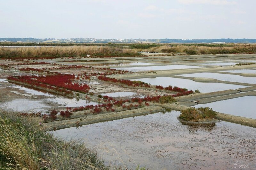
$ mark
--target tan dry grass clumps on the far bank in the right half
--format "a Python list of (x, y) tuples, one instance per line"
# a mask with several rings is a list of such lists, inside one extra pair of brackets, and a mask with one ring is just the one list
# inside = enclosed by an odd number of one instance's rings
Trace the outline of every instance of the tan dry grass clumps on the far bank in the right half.
[(187, 53), (187, 54), (234, 54), (234, 53), (255, 53), (256, 44), (239, 44), (231, 47), (208, 47), (196, 45), (158, 46), (144, 49), (145, 52), (158, 53)]

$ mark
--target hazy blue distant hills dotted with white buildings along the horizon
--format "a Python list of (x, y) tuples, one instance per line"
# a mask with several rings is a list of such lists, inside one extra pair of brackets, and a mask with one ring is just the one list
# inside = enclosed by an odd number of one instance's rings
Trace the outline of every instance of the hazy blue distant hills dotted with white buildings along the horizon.
[(0, 42), (44, 42), (52, 41), (57, 43), (134, 43), (134, 42), (149, 42), (149, 43), (212, 43), (212, 42), (225, 42), (225, 43), (256, 43), (256, 39), (192, 39), (192, 40), (182, 40), (182, 39), (91, 39), (91, 38), (71, 38), (71, 39), (54, 39), (54, 38), (0, 38)]

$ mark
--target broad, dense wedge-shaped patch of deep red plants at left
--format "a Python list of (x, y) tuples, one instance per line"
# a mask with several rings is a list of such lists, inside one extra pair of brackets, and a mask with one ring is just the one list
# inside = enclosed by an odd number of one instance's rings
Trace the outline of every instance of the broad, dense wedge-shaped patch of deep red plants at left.
[[(47, 76), (12, 76), (8, 77), (10, 80), (28, 83), (29, 85), (35, 85), (39, 87), (55, 86), (64, 90), (68, 89), (75, 92), (87, 93), (90, 90), (90, 86), (86, 84), (73, 83), (75, 75), (73, 74), (57, 74)], [(57, 90), (59, 91), (59, 90)]]

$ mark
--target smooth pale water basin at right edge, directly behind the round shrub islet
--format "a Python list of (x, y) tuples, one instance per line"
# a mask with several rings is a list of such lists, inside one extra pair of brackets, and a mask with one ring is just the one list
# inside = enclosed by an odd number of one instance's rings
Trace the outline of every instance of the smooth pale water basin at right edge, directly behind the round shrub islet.
[(214, 111), (220, 113), (256, 119), (255, 104), (256, 96), (244, 96), (212, 103), (198, 104), (195, 107), (212, 107)]

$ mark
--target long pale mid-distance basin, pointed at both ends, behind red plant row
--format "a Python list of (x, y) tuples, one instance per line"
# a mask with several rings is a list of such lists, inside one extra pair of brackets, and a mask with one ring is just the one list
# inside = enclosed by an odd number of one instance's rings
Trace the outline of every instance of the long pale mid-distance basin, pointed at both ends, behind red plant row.
[(204, 93), (247, 87), (243, 85), (231, 85), (231, 84), (225, 84), (225, 83), (201, 83), (201, 82), (195, 82), (189, 79), (171, 78), (171, 77), (138, 78), (138, 79), (132, 79), (132, 80), (140, 80), (146, 83), (150, 83), (151, 85), (162, 85), (163, 87), (172, 85), (172, 86), (177, 86), (181, 88), (186, 88), (188, 90), (198, 89), (200, 92), (204, 92)]

